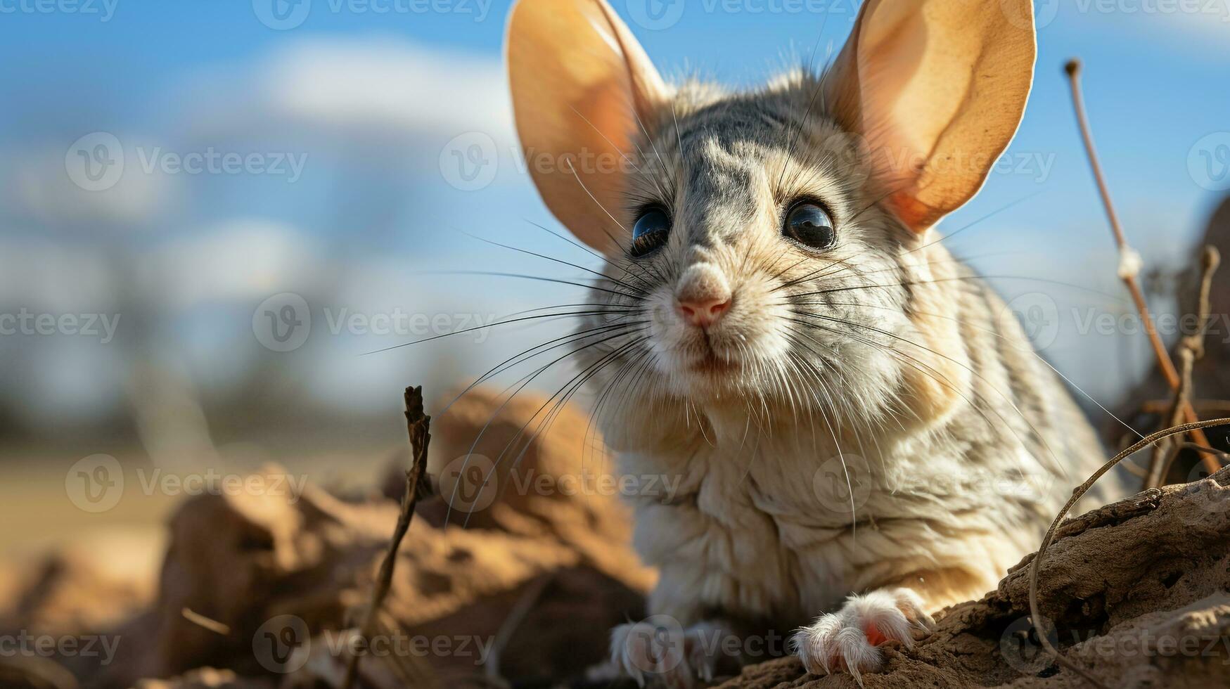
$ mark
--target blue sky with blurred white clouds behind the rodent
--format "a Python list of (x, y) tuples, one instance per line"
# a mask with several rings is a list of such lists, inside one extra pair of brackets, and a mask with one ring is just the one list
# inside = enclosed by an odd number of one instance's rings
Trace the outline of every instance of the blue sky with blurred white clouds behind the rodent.
[[(1124, 308), (1061, 75), (1071, 55), (1085, 60), (1089, 111), (1107, 175), (1129, 237), (1148, 260), (1173, 262), (1186, 255), (1219, 201), (1189, 162), (1200, 164), (1193, 146), (1202, 139), (1230, 145), (1230, 0), (1177, 1), (1197, 11), (1159, 14), (1151, 0), (1039, 4), (1046, 26), (1036, 85), (1009, 162), (945, 225), (963, 228), (1000, 210), (951, 246), (975, 256), (988, 274), (1014, 276), (996, 282), (1010, 299), (1046, 292), (1060, 309)], [(351, 305), (368, 309), (413, 299), (433, 311), (483, 314), (557, 298), (533, 285), (406, 277), (440, 267), (526, 263), (455, 230), (584, 260), (526, 221), (554, 224), (524, 175), (509, 173), (514, 166), (501, 167), (496, 181), (478, 191), (442, 180), (438, 155), (467, 132), (490, 132), (502, 162), (513, 156), (506, 150), (513, 143), (499, 64), (506, 1), (299, 0), (288, 9), (306, 7), (306, 15), (285, 31), (260, 20), (268, 0), (43, 2), (0, 0), (0, 64), (6, 66), (0, 70), (0, 240), (18, 249), (43, 242), (64, 256), (89, 250), (130, 255), (141, 265), (181, 261), (154, 271), (162, 282), (140, 284), (166, 295), (160, 308), (171, 316), (160, 322), (166, 332), (159, 337), (202, 380), (241, 379), (246, 364), (236, 362), (267, 354), (252, 341), (248, 319), (257, 303), (278, 292), (339, 289), (352, 294)], [(614, 6), (664, 74), (700, 73), (732, 85), (761, 81), (818, 42), (822, 53), (830, 42), (839, 47), (854, 11), (851, 0), (645, 2), (659, 0), (615, 0)], [(807, 11), (823, 6), (833, 11), (827, 22)], [(92, 11), (84, 14), (85, 7)], [(681, 14), (665, 28), (635, 21), (654, 7)], [(117, 134), (125, 149), (134, 143), (181, 153), (272, 149), (310, 159), (293, 185), (268, 175), (140, 176), (129, 162), (114, 189), (82, 194), (66, 186), (64, 151), (93, 132)], [(1010, 207), (1014, 202), (1020, 203)], [(299, 252), (303, 260), (287, 258)], [(11, 250), (6, 260), (37, 272), (37, 263)], [(539, 273), (547, 268), (533, 266)], [(58, 309), (86, 309), (105, 290), (73, 283), (92, 274), (75, 273), (49, 278), (55, 289), (30, 294), (28, 301), (50, 303), (58, 294)], [(4, 276), (0, 288), (15, 289)], [(432, 305), (422, 306), (424, 300)], [(1138, 340), (1125, 344), (1132, 352), (1125, 367), (1102, 356), (1107, 341), (1071, 333), (1046, 353), (1079, 384), (1108, 396), (1125, 383), (1119, 372), (1143, 365)], [(279, 362), (312, 367), (322, 397), (383, 405), (371, 395), (387, 389), (390, 358), (358, 353), (387, 343), (331, 341)], [(411, 356), (405, 352), (392, 356)], [(50, 411), (64, 400), (89, 400), (79, 374), (111, 360), (89, 358), (103, 356), (93, 351), (81, 353), (86, 358), (76, 367), (28, 356), (34, 370), (49, 372), (50, 383), (33, 373), (20, 383), (37, 388), (42, 397), (36, 397), (46, 399)], [(507, 348), (488, 346), (478, 358), (503, 356)], [(428, 353), (415, 357), (419, 363), (410, 365), (429, 365)], [(55, 375), (64, 379), (63, 389), (55, 388)], [(98, 385), (119, 384), (100, 378)], [(100, 392), (98, 405), (114, 404), (117, 395)]]

